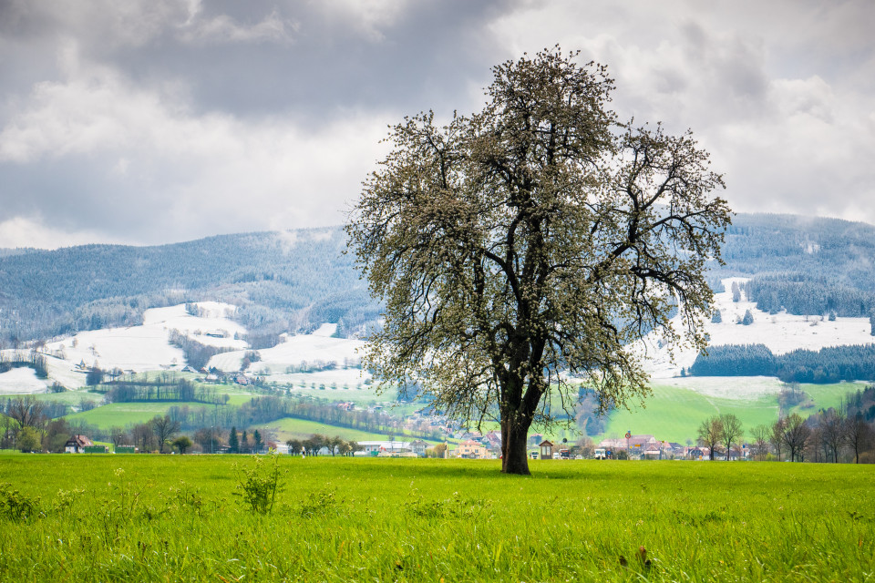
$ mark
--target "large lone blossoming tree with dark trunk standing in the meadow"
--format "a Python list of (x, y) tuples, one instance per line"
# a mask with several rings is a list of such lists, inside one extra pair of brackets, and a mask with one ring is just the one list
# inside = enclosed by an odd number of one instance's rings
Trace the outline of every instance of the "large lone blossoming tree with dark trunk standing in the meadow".
[(346, 226), (386, 306), (367, 365), (465, 422), (499, 420), (514, 474), (530, 425), (571, 411), (581, 383), (602, 408), (648, 393), (634, 341), (705, 346), (703, 268), (730, 220), (691, 135), (619, 123), (605, 68), (575, 59), (508, 61), (481, 112), (391, 128)]

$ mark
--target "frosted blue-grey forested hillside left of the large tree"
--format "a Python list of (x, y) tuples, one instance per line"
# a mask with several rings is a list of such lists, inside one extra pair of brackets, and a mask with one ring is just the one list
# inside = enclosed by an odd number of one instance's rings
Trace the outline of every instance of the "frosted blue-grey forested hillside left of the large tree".
[(239, 306), (262, 340), (339, 320), (355, 332), (378, 310), (344, 248), (335, 228), (0, 253), (0, 340), (133, 325), (148, 308), (201, 300)]

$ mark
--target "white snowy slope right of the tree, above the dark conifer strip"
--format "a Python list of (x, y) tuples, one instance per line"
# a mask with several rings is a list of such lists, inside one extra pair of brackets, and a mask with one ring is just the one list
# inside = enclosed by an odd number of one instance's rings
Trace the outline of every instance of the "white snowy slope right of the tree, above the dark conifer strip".
[[(712, 346), (765, 344), (772, 353), (784, 354), (799, 348), (819, 350), (827, 346), (875, 342), (870, 335), (869, 318), (836, 318), (829, 322), (819, 316), (795, 316), (787, 312), (769, 315), (757, 310), (754, 302), (748, 302), (744, 292), (740, 302), (733, 302), (733, 281), (740, 284), (746, 280), (727, 278), (723, 280), (726, 292), (715, 294), (715, 307), (720, 310), (723, 322), (707, 322), (706, 331)], [(736, 323), (747, 310), (753, 314), (754, 322), (747, 326)], [(654, 337), (648, 340), (646, 369), (654, 380), (678, 376), (682, 367), (688, 368), (695, 362), (695, 350), (675, 350), (672, 363), (667, 348), (659, 348)]]

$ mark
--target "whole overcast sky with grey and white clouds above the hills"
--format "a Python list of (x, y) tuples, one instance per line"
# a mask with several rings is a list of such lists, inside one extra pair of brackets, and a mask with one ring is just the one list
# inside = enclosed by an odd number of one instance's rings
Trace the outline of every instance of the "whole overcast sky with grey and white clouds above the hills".
[(0, 0), (0, 247), (340, 224), (386, 126), (554, 46), (738, 211), (875, 223), (875, 2)]

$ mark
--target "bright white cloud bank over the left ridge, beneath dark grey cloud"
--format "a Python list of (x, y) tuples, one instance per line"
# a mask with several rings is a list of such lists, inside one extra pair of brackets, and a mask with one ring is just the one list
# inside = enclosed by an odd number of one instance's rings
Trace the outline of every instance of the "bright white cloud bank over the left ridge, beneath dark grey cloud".
[[(97, 189), (78, 201), (81, 210), (117, 208), (108, 232), (141, 242), (343, 222), (386, 131), (373, 112), (326, 119), (315, 130), (285, 117), (194, 114), (178, 96), (106, 68), (67, 71), (67, 80), (35, 87), (0, 132), (0, 161), (82, 161)], [(64, 195), (32, 196), (51, 207)]]

